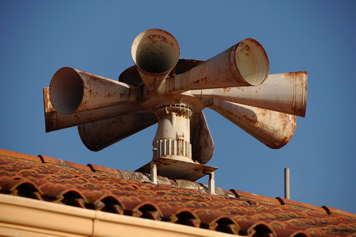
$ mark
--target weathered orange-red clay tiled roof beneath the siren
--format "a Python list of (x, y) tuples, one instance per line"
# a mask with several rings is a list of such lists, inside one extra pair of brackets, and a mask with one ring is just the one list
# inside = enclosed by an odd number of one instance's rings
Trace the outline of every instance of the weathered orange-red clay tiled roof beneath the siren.
[(0, 193), (242, 236), (355, 236), (356, 214), (0, 149)]

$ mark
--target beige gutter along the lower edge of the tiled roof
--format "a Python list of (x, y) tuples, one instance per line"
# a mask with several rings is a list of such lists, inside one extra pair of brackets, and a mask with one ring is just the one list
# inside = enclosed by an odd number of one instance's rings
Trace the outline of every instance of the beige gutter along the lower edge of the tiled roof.
[(227, 233), (0, 194), (0, 236), (227, 237)]

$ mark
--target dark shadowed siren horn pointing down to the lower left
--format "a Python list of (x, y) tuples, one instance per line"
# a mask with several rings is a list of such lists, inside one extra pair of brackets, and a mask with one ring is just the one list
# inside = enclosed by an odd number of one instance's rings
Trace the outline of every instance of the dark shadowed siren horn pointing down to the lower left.
[(115, 142), (157, 123), (155, 114), (126, 114), (78, 126), (79, 136), (91, 151), (100, 151)]

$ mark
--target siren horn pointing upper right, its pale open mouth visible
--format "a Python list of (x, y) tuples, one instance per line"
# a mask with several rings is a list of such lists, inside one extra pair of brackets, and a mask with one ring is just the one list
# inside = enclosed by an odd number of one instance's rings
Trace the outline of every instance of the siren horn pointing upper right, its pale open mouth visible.
[(176, 76), (174, 90), (257, 86), (269, 73), (265, 49), (255, 39), (244, 39), (204, 63)]

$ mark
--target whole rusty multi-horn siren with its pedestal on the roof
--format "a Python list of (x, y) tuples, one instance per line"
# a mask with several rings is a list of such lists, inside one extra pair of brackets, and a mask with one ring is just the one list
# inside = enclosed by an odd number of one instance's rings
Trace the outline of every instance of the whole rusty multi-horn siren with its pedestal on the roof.
[[(229, 119), (266, 146), (279, 149), (292, 138), (295, 116), (304, 117), (307, 72), (269, 74), (267, 54), (244, 39), (213, 58), (179, 59), (177, 40), (161, 29), (139, 34), (131, 47), (134, 66), (119, 81), (61, 68), (43, 88), (46, 132), (78, 126), (80, 138), (99, 151), (158, 123), (153, 158), (139, 172), (196, 181), (214, 142), (203, 109)], [(211, 183), (212, 182), (212, 183)]]

